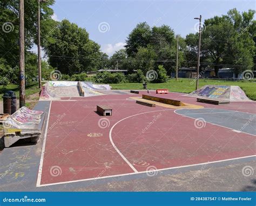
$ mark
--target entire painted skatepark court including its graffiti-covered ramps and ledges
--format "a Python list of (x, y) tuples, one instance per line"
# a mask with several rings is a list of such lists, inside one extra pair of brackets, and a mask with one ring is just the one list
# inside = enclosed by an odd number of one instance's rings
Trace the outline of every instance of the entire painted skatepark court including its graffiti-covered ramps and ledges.
[[(106, 186), (114, 181), (118, 187), (112, 190), (122, 191), (133, 181), (162, 177), (155, 181), (165, 184), (165, 175), (183, 173), (191, 173), (185, 181), (196, 181), (198, 171), (213, 177), (221, 175), (214, 171), (220, 167), (225, 167), (224, 175), (230, 165), (235, 170), (255, 163), (256, 104), (240, 87), (149, 92), (49, 81), (37, 112), (29, 111), (41, 115), (38, 142), (12, 142), (1, 152), (1, 189), (109, 190)], [(97, 112), (102, 105), (111, 113)], [(10, 120), (8, 129), (23, 133), (29, 123), (19, 123), (22, 127)]]

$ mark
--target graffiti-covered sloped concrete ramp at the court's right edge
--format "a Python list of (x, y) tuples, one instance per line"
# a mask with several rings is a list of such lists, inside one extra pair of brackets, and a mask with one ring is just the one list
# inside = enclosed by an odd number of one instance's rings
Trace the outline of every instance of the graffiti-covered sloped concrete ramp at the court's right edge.
[(187, 95), (196, 98), (226, 101), (252, 101), (239, 86), (205, 85)]

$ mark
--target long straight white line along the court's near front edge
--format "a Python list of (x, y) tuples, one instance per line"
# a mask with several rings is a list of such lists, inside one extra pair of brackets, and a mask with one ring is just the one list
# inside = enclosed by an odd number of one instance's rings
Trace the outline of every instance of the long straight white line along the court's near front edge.
[[(156, 169), (156, 170), (150, 170), (152, 171), (164, 171), (164, 170), (169, 170), (169, 169), (179, 169), (179, 168), (186, 168), (186, 167), (193, 167), (193, 166), (199, 166), (203, 164), (212, 164), (212, 163), (218, 163), (218, 162), (226, 162), (226, 161), (232, 161), (232, 160), (239, 160), (239, 159), (246, 159), (250, 157), (256, 157), (256, 155), (251, 155), (251, 156), (243, 156), (243, 157), (236, 157), (232, 159), (226, 159), (226, 160), (218, 160), (218, 161), (212, 161), (212, 162), (204, 162), (204, 163), (199, 163), (199, 164), (189, 164), (186, 166), (178, 166), (178, 167), (169, 167), (169, 168), (164, 168), (164, 169)], [(55, 186), (58, 184), (68, 184), (68, 183), (76, 183), (76, 182), (84, 182), (84, 181), (90, 181), (90, 180), (100, 180), (100, 179), (105, 179), (105, 178), (111, 178), (111, 177), (122, 177), (122, 176), (129, 176), (129, 175), (137, 175), (137, 174), (144, 174), (148, 173), (149, 171), (139, 171), (138, 173), (126, 173), (126, 174), (119, 174), (119, 175), (109, 175), (109, 176), (104, 176), (104, 177), (95, 177), (95, 178), (87, 178), (83, 180), (72, 180), (72, 181), (66, 181), (66, 182), (56, 182), (56, 183), (49, 183), (49, 184), (41, 184), (37, 187), (45, 187), (45, 186)]]

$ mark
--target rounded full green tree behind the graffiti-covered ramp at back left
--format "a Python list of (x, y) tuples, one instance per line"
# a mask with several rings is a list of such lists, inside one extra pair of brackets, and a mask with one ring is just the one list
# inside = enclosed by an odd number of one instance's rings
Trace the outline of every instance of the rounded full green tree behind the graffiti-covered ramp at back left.
[(45, 46), (50, 65), (69, 75), (97, 70), (102, 57), (99, 49), (100, 46), (89, 39), (85, 29), (66, 19), (52, 30)]

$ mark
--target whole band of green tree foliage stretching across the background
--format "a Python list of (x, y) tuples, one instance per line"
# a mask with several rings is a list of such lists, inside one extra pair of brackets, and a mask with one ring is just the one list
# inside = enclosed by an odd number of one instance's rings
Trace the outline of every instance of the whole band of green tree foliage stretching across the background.
[[(43, 76), (49, 68), (55, 68), (64, 75), (63, 78), (84, 79), (87, 77), (84, 73), (111, 68), (127, 70), (130, 81), (134, 82), (136, 79), (144, 81), (146, 73), (154, 70), (158, 73), (159, 82), (163, 82), (176, 69), (177, 38), (178, 66), (197, 66), (198, 32), (183, 38), (169, 25), (138, 23), (127, 36), (124, 49), (109, 57), (100, 51), (99, 44), (89, 38), (85, 28), (67, 19), (61, 22), (53, 20), (50, 6), (54, 3), (54, 0), (41, 3), (41, 42), (46, 58), (42, 63)], [(24, 8), (25, 71), (29, 79), (36, 79), (37, 56), (31, 48), (37, 44), (37, 1), (25, 1)], [(18, 81), (18, 9), (18, 0), (0, 2), (0, 82)], [(254, 10), (239, 12), (231, 9), (225, 15), (205, 19), (201, 33), (200, 69), (206, 66), (214, 68), (217, 75), (218, 70), (224, 67), (234, 68), (237, 74), (255, 69), (254, 15)], [(106, 79), (117, 82), (119, 77), (112, 75)]]

